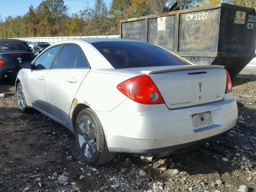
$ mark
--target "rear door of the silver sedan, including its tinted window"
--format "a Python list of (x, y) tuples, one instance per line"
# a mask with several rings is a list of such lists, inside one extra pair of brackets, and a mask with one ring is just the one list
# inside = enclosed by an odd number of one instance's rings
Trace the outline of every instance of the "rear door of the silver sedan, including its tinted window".
[(74, 96), (89, 71), (90, 66), (80, 47), (64, 45), (45, 82), (48, 108), (55, 118), (68, 122)]

